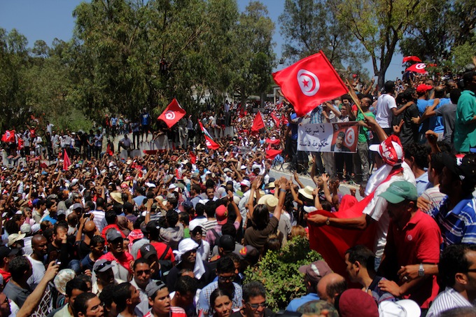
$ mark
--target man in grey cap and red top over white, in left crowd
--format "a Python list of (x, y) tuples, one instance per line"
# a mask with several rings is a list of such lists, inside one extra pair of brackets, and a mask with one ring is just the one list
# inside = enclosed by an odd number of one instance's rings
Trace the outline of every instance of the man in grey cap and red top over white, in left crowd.
[(106, 241), (109, 252), (99, 260), (111, 261), (114, 277), (129, 281), (129, 274), (132, 274), (131, 262), (134, 261), (134, 258), (129, 252), (125, 251), (123, 235), (118, 230), (109, 230), (106, 234)]

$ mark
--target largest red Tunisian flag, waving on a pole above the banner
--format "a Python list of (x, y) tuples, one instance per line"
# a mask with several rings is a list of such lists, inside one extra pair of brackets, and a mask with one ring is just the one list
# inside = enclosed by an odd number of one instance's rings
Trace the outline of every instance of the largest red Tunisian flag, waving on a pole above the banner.
[(349, 92), (322, 51), (273, 73), (273, 78), (300, 117)]

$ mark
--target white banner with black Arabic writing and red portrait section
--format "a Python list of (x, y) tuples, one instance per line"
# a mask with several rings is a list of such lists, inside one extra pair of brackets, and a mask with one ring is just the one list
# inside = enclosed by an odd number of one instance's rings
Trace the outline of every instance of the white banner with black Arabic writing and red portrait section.
[(356, 153), (357, 122), (316, 123), (297, 129), (297, 150)]

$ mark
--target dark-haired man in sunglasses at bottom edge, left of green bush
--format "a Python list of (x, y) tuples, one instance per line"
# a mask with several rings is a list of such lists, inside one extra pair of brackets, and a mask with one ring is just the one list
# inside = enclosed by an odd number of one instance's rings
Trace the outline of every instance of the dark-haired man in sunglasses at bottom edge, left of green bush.
[(267, 317), (273, 311), (267, 308), (266, 290), (261, 282), (252, 281), (243, 286), (243, 307), (230, 317)]

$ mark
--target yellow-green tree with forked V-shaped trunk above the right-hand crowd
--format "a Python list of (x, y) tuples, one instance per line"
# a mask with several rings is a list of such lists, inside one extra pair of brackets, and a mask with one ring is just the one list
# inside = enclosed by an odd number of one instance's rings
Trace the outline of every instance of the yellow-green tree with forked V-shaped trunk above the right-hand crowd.
[(428, 0), (332, 0), (337, 18), (360, 41), (384, 85), (385, 73), (403, 34)]

